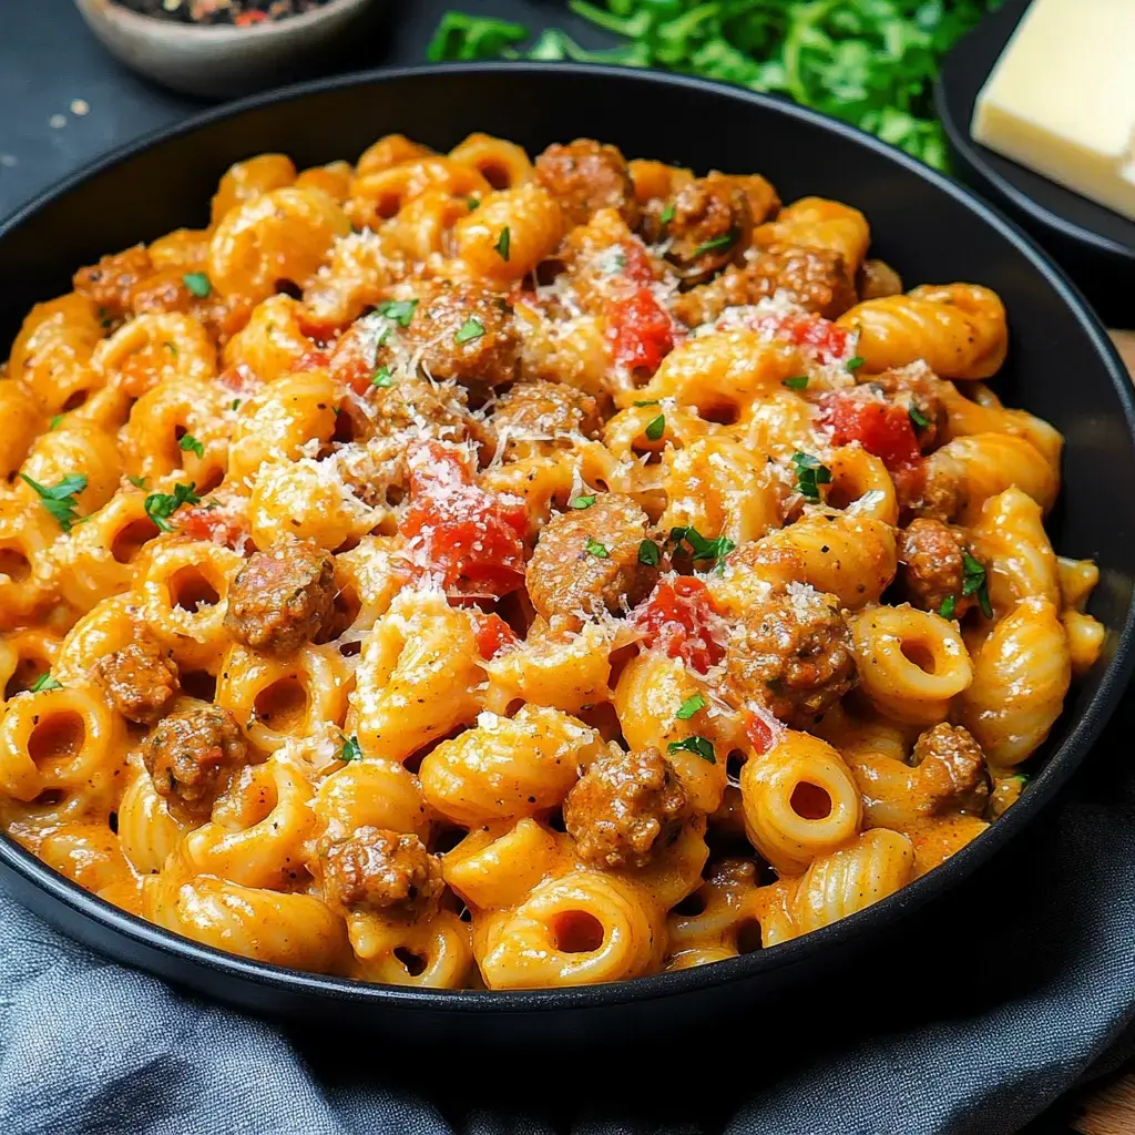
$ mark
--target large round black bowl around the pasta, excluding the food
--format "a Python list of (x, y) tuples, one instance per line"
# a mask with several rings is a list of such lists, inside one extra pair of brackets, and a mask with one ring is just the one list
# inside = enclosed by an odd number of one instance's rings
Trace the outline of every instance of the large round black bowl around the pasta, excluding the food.
[[(947, 864), (896, 896), (806, 938), (714, 966), (613, 985), (514, 993), (427, 992), (295, 973), (179, 939), (93, 898), (0, 838), (0, 869), (30, 907), (74, 938), (211, 997), (259, 1012), (382, 1028), (401, 1037), (562, 1041), (674, 1028), (728, 1008), (768, 1006), (815, 985), (905, 916), (944, 897), (1006, 847), (1071, 775), (1123, 695), (1133, 664), (1135, 540), (1120, 510), (1135, 489), (1129, 380), (1067, 278), (999, 213), (874, 137), (737, 87), (596, 67), (471, 65), (387, 72), (294, 87), (208, 114), (109, 158), (0, 228), (0, 340), (36, 300), (69, 287), (78, 264), (202, 225), (217, 178), (268, 150), (299, 165), (360, 153), (402, 132), (447, 149), (487, 131), (537, 151), (594, 136), (628, 154), (706, 170), (759, 170), (785, 200), (819, 194), (871, 218), (874, 253), (914, 283), (974, 280), (1010, 314), (998, 388), (1056, 423), (1068, 443), (1058, 549), (1092, 556), (1092, 612), (1104, 657), (1070, 693), (1022, 801)], [(969, 939), (980, 952), (980, 942)]]

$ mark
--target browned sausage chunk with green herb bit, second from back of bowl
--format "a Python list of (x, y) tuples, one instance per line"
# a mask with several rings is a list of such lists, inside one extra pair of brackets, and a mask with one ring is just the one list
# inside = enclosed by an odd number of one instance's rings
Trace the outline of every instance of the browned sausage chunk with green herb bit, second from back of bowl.
[(749, 246), (749, 195), (724, 174), (698, 177), (683, 185), (669, 204), (651, 202), (644, 229), (651, 243), (669, 242), (666, 259), (683, 280), (698, 283), (739, 262)]

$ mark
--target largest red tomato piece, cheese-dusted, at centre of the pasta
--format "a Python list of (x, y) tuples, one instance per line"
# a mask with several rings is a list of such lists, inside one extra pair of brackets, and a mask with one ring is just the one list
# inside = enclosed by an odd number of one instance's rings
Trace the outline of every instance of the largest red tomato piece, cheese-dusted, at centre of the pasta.
[(528, 510), (519, 497), (488, 493), (438, 442), (409, 452), (410, 506), (398, 526), (424, 552), (447, 591), (502, 596), (524, 582)]

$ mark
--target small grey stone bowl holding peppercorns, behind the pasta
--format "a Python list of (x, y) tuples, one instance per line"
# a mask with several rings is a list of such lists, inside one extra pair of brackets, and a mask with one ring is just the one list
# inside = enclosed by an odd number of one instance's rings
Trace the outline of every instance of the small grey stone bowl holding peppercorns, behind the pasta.
[(278, 86), (327, 62), (372, 15), (376, 0), (331, 0), (250, 27), (140, 16), (111, 0), (75, 0), (87, 26), (127, 67), (163, 86), (228, 99)]

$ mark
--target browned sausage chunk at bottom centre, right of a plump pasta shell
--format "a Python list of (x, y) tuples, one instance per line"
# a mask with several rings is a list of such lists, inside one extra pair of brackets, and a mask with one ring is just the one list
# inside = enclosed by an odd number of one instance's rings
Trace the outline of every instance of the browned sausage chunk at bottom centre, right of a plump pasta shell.
[(564, 825), (579, 857), (596, 867), (645, 867), (690, 815), (689, 800), (657, 749), (617, 746), (579, 779), (564, 800)]

